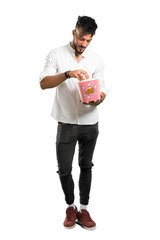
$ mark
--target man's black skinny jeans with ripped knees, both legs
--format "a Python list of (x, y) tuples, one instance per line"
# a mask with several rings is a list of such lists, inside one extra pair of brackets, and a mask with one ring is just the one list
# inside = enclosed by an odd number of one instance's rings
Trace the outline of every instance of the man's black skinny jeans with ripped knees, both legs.
[(58, 123), (56, 141), (58, 173), (67, 204), (74, 202), (74, 181), (71, 172), (77, 142), (79, 144), (80, 203), (87, 205), (89, 202), (93, 166), (92, 157), (98, 133), (98, 123), (94, 125)]

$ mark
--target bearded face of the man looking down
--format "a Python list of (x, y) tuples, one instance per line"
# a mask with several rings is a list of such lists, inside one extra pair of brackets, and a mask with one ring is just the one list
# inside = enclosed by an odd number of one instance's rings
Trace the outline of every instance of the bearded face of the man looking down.
[(73, 46), (77, 54), (82, 54), (92, 41), (91, 34), (83, 34), (82, 29), (73, 30)]

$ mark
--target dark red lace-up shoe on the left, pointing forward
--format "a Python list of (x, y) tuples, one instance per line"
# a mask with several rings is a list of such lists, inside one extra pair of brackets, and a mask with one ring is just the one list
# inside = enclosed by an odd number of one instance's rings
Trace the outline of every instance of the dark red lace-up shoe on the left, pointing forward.
[(75, 227), (77, 213), (78, 213), (77, 208), (74, 209), (73, 207), (68, 207), (66, 209), (66, 218), (63, 223), (65, 228), (74, 228)]

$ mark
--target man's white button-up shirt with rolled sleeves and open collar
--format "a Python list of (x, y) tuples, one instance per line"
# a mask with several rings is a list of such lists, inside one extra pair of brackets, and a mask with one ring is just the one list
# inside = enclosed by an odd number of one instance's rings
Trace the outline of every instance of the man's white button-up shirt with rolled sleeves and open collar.
[[(82, 69), (90, 78), (100, 80), (100, 91), (106, 95), (108, 90), (104, 84), (104, 64), (102, 59), (90, 49), (82, 54), (82, 59), (77, 62), (75, 50), (70, 43), (52, 50), (46, 57), (43, 72), (40, 74), (40, 81), (46, 76), (53, 76), (64, 73), (68, 70)], [(56, 87), (56, 96), (51, 116), (58, 122), (91, 125), (98, 122), (97, 106), (84, 105), (80, 103), (78, 92), (78, 79), (69, 78)]]

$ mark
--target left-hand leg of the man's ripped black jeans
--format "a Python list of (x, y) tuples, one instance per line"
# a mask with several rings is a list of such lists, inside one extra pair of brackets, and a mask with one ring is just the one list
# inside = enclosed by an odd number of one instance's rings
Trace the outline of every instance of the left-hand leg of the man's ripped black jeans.
[(74, 126), (59, 123), (56, 142), (58, 173), (67, 204), (74, 202), (74, 182), (71, 171), (76, 142)]

